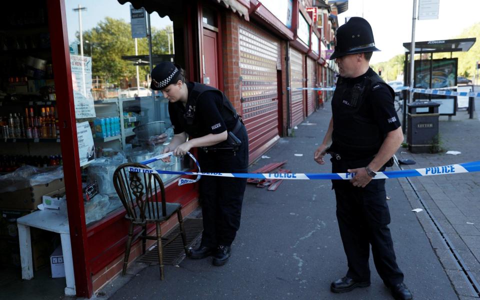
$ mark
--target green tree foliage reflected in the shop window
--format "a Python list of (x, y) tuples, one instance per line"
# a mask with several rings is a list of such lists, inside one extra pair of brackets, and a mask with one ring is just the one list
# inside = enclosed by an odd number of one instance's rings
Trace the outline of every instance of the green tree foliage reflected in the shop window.
[[(171, 27), (152, 31), (152, 54), (168, 53), (167, 31)], [(78, 36), (78, 35), (77, 35)], [(135, 55), (135, 42), (131, 37), (130, 24), (123, 19), (105, 17), (103, 21), (83, 32), (84, 55), (92, 56), (92, 76), (98, 76), (105, 82), (118, 84), (122, 78), (134, 78), (135, 66), (131, 61), (124, 60), (121, 56)], [(172, 46), (172, 45), (171, 45)], [(148, 38), (137, 38), (138, 55), (148, 55)], [(145, 79), (149, 72), (148, 66), (139, 67), (140, 81)]]

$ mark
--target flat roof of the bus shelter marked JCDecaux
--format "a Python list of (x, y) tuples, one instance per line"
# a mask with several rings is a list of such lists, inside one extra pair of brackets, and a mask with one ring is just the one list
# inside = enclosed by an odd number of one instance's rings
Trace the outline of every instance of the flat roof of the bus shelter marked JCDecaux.
[[(468, 51), (475, 43), (475, 37), (440, 39), (428, 41), (415, 41), (415, 53), (437, 53), (437, 52), (456, 52)], [(404, 42), (405, 52), (410, 52), (411, 42)]]

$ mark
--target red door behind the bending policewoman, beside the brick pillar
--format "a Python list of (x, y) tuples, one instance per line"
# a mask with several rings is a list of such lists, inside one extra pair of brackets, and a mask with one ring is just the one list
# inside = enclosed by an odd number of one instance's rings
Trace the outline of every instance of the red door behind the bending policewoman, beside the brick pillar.
[(219, 88), (217, 34), (203, 28), (203, 83), (215, 88)]

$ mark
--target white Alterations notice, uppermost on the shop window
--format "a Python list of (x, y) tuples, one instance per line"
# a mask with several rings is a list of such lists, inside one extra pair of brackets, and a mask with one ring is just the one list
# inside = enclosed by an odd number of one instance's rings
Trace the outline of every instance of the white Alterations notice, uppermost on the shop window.
[(70, 68), (75, 118), (95, 117), (91, 94), (91, 57), (70, 54)]

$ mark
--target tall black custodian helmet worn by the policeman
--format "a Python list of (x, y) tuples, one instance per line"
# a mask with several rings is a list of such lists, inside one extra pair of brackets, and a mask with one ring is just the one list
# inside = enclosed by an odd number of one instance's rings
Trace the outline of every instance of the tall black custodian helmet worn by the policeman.
[(330, 59), (370, 51), (380, 51), (375, 47), (370, 24), (362, 17), (353, 16), (336, 29), (335, 51)]

